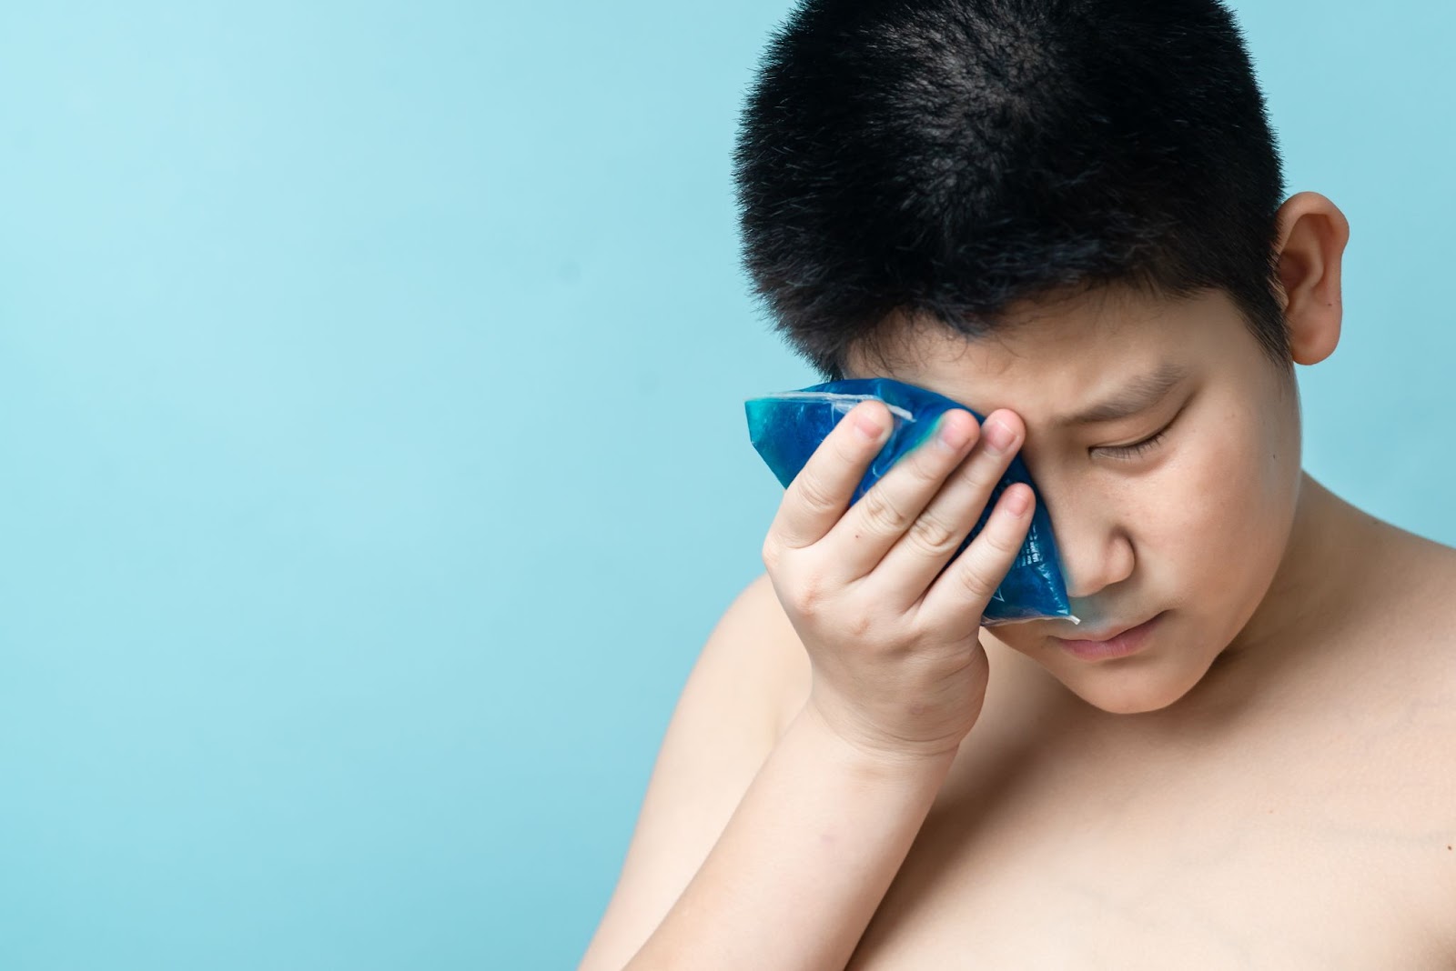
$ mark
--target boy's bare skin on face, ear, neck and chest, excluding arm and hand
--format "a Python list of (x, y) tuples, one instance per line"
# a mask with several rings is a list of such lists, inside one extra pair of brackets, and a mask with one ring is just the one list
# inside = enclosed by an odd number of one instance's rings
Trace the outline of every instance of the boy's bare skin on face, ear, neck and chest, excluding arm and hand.
[[(1348, 224), (1307, 192), (1278, 215), (1315, 365)], [(846, 967), (1453, 967), (1456, 551), (1300, 468), (1297, 391), (1223, 298), (1024, 313), (974, 343), (907, 329), (890, 376), (1021, 423), (1091, 625), (1165, 613), (1096, 663), (1048, 640), (1064, 621), (981, 631), (984, 706)], [(1162, 359), (1195, 368), (1165, 403), (1054, 426)], [(1088, 451), (1175, 413), (1125, 464)]]

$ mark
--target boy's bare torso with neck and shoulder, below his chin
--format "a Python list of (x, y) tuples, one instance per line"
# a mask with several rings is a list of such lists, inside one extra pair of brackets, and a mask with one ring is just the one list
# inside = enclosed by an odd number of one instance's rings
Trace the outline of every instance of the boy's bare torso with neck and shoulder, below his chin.
[(1456, 551), (1377, 535), (1369, 597), (1233, 702), (1111, 715), (984, 638), (849, 968), (1456, 968)]

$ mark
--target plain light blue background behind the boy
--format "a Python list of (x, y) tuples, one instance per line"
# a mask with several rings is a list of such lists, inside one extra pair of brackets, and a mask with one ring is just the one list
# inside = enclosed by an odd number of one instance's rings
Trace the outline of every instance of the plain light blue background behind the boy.
[[(1456, 7), (1238, 4), (1353, 225), (1306, 465), (1456, 542)], [(0, 10), (0, 968), (568, 968), (815, 381), (786, 3)]]

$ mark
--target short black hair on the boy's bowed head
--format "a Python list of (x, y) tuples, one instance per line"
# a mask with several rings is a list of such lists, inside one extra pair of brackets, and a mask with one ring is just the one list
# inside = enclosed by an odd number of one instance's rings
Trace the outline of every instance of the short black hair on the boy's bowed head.
[(1290, 368), (1283, 164), (1219, 0), (807, 0), (734, 147), (744, 267), (826, 379), (893, 314), (1223, 289)]

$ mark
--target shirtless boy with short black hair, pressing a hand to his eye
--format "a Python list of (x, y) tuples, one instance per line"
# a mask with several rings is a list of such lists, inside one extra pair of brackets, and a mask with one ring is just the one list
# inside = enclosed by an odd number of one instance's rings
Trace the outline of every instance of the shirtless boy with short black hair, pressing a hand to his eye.
[[(1350, 231), (1227, 10), (812, 1), (735, 163), (794, 349), (986, 422), (789, 486), (581, 968), (1456, 968), (1456, 551), (1302, 468)], [(1016, 452), (1079, 625), (978, 626), (1028, 488), (951, 560)]]

